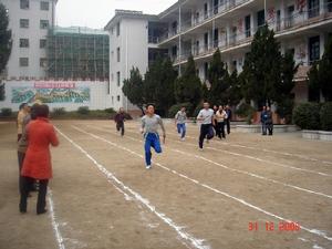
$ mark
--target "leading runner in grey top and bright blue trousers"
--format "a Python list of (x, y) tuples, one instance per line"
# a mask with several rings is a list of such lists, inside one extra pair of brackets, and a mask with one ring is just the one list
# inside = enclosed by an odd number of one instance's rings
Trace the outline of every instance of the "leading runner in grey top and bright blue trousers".
[(155, 149), (156, 153), (162, 153), (160, 139), (158, 135), (158, 126), (163, 129), (163, 142), (165, 143), (166, 131), (163, 124), (163, 120), (159, 115), (155, 114), (154, 105), (148, 105), (146, 108), (145, 116), (142, 117), (142, 129), (145, 138), (145, 165), (146, 168), (152, 168), (151, 158), (152, 152), (151, 147)]

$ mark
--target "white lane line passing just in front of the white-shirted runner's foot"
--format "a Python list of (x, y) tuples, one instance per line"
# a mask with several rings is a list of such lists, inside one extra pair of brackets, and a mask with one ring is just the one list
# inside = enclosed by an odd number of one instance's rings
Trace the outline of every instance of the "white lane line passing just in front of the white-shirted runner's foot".
[[(96, 127), (93, 127), (95, 129), (100, 129), (100, 128), (96, 128)], [(105, 132), (104, 129), (100, 129), (100, 131), (103, 131)], [(110, 131), (107, 131), (107, 133), (111, 133), (111, 134), (114, 134)], [(135, 142), (139, 142), (139, 143), (143, 143), (143, 141), (139, 141), (139, 139), (136, 139), (136, 138), (133, 138), (133, 137), (127, 137), (128, 139), (132, 139), (132, 141), (135, 141)], [(183, 143), (183, 142), (179, 142), (179, 143)], [(168, 146), (165, 146), (165, 148), (167, 148)], [(197, 156), (195, 154), (189, 154), (189, 153), (185, 153), (183, 151), (179, 151), (179, 149), (173, 149), (170, 147), (168, 147), (170, 151), (173, 152), (176, 152), (176, 153), (179, 153), (179, 154), (183, 154), (183, 155), (186, 155), (186, 156), (189, 156), (189, 157), (196, 157), (198, 159), (201, 159), (201, 160), (205, 160), (205, 162), (208, 162), (212, 165), (216, 165), (218, 167), (221, 167), (221, 168), (225, 168), (227, 170), (230, 170), (230, 172), (236, 172), (236, 173), (239, 173), (239, 174), (243, 174), (243, 175), (248, 175), (250, 177), (255, 177), (255, 178), (258, 178), (258, 179), (261, 179), (261, 180), (266, 180), (266, 181), (270, 181), (270, 183), (273, 183), (273, 184), (278, 184), (278, 185), (282, 185), (284, 187), (290, 187), (290, 188), (293, 188), (295, 190), (300, 190), (300, 191), (304, 191), (304, 193), (308, 193), (308, 194), (311, 194), (311, 195), (318, 195), (318, 196), (322, 196), (322, 197), (325, 197), (325, 198), (329, 198), (329, 199), (332, 199), (332, 196), (331, 195), (326, 195), (324, 193), (320, 193), (320, 191), (314, 191), (314, 190), (311, 190), (311, 189), (308, 189), (308, 188), (302, 188), (302, 187), (299, 187), (299, 186), (295, 186), (295, 185), (292, 185), (292, 184), (287, 184), (287, 183), (282, 183), (282, 181), (279, 181), (279, 180), (276, 180), (276, 179), (271, 179), (271, 178), (267, 178), (264, 176), (261, 176), (261, 175), (258, 175), (258, 174), (255, 174), (255, 173), (250, 173), (250, 172), (246, 172), (246, 170), (241, 170), (241, 169), (236, 169), (236, 168), (231, 168), (231, 167), (228, 167), (224, 164), (219, 164), (217, 162), (214, 162), (214, 160), (210, 160), (206, 157), (203, 157), (203, 156)]]

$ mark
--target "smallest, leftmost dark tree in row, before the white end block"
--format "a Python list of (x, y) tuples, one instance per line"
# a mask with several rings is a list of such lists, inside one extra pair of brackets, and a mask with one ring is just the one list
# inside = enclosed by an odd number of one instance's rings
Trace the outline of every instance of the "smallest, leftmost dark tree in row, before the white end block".
[(131, 77), (124, 80), (122, 91), (129, 102), (137, 105), (143, 112), (146, 97), (144, 94), (143, 79), (137, 68), (131, 70)]

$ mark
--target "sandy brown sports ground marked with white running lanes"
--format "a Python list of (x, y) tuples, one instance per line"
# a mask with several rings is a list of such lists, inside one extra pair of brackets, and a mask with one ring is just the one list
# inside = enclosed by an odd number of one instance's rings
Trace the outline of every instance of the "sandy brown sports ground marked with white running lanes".
[(0, 124), (1, 249), (331, 249), (332, 143), (235, 131), (198, 151), (167, 124), (144, 167), (139, 123), (54, 122), (48, 214), (18, 209), (14, 123)]

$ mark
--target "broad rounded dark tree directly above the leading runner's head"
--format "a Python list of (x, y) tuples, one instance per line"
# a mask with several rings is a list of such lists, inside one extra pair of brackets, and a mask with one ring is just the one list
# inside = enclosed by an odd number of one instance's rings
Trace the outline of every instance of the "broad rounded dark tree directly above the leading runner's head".
[(174, 82), (177, 74), (172, 61), (166, 58), (157, 58), (149, 66), (144, 80), (144, 94), (146, 101), (154, 103), (162, 115), (175, 104)]

